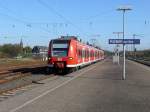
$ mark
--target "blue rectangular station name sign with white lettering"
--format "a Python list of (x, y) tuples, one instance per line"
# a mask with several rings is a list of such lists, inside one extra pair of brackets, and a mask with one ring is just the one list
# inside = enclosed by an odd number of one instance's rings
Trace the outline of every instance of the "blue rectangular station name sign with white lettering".
[(109, 44), (140, 44), (140, 39), (109, 39)]

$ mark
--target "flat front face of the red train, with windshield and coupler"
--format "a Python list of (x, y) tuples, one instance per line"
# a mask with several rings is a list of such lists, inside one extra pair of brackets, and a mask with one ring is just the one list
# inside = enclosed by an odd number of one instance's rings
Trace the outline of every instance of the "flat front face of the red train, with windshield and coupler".
[(70, 40), (54, 39), (50, 41), (48, 51), (48, 70), (55, 72), (67, 71)]

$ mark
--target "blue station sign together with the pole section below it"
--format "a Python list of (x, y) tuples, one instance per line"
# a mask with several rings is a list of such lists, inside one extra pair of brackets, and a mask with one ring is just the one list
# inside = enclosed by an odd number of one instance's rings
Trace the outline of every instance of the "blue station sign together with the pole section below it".
[(125, 64), (125, 60), (126, 60), (126, 50), (125, 50), (125, 45), (126, 44), (140, 44), (140, 39), (109, 39), (109, 44), (122, 44), (124, 47), (123, 47), (123, 75), (122, 75), (122, 78), (123, 80), (126, 79), (126, 64)]

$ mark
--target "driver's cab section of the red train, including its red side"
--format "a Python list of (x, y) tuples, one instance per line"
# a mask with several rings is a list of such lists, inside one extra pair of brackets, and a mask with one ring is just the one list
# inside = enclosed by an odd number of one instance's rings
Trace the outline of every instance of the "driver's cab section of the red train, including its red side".
[(49, 44), (48, 67), (63, 70), (69, 64), (76, 64), (75, 38), (53, 39)]

